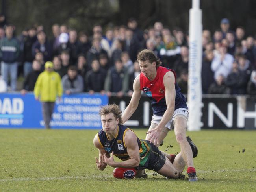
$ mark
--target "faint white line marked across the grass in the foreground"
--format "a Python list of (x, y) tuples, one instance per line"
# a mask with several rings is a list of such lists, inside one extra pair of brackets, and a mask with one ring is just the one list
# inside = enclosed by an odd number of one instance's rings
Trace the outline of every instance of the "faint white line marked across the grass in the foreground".
[[(198, 170), (197, 173), (207, 174), (216, 172), (256, 172), (256, 169), (240, 169), (240, 170)], [(93, 175), (93, 176), (70, 176), (70, 177), (43, 177), (43, 178), (13, 178), (13, 179), (0, 179), (0, 182), (12, 182), (12, 181), (52, 181), (52, 180), (65, 180), (65, 179), (92, 179), (92, 178), (110, 178), (112, 175)]]

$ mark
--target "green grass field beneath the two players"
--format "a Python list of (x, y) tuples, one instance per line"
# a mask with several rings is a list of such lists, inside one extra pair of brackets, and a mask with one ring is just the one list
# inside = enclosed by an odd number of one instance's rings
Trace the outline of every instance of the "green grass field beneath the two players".
[[(256, 131), (187, 133), (198, 147), (196, 183), (154, 176), (149, 170), (147, 179), (121, 180), (113, 178), (112, 167), (97, 170), (98, 150), (92, 143), (96, 132), (0, 129), (0, 192), (256, 191)], [(140, 138), (145, 132), (135, 129)], [(173, 132), (160, 149), (179, 151)]]

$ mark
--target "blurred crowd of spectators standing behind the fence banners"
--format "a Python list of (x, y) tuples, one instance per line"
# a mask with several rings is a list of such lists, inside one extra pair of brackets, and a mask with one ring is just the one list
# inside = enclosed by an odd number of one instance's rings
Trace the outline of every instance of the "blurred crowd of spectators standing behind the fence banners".
[[(17, 90), (21, 74), (25, 78), (22, 94), (33, 91), (45, 62), (52, 61), (64, 94), (131, 95), (132, 82), (140, 72), (137, 53), (147, 48), (160, 57), (162, 66), (176, 71), (182, 93), (187, 93), (189, 36), (178, 27), (169, 29), (155, 22), (143, 31), (130, 18), (122, 26), (95, 24), (92, 35), (59, 24), (52, 26), (49, 36), (43, 26), (32, 26), (16, 37), (14, 29), (13, 25), (0, 27), (0, 80), (10, 85), (8, 90)], [(241, 26), (234, 29), (224, 18), (220, 29), (203, 30), (203, 94), (256, 94), (255, 38), (245, 36)]]

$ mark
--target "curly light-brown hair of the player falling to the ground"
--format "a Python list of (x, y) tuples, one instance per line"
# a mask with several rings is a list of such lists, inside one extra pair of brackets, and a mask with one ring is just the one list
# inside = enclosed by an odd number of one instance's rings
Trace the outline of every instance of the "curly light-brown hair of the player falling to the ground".
[(119, 125), (122, 125), (122, 111), (120, 110), (119, 105), (117, 104), (108, 104), (105, 105), (103, 107), (101, 107), (100, 111), (99, 111), (99, 115), (106, 115), (106, 114), (110, 114), (113, 113), (115, 118), (119, 118)]

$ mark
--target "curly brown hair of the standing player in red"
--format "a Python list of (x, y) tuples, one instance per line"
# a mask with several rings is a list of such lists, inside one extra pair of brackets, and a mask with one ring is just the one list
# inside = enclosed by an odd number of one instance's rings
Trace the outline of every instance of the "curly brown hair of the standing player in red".
[(149, 61), (150, 63), (156, 62), (156, 68), (162, 65), (161, 60), (156, 56), (156, 54), (149, 49), (143, 49), (137, 55), (137, 61)]

